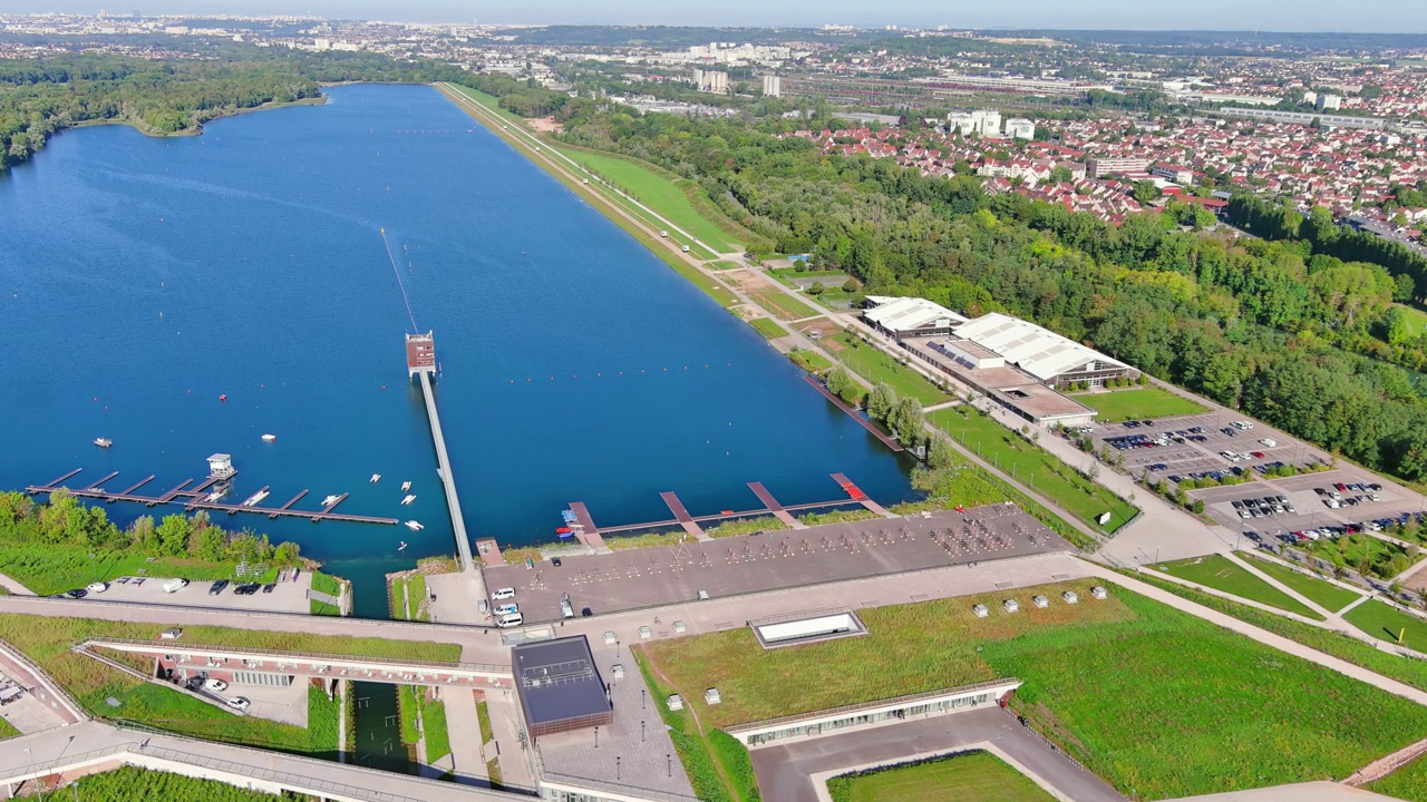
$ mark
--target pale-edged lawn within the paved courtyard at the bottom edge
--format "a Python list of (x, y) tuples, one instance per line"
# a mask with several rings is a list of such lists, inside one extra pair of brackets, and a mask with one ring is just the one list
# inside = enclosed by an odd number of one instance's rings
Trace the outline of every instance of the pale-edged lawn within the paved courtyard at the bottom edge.
[(870, 769), (828, 781), (832, 802), (1050, 802), (1026, 775), (990, 752)]

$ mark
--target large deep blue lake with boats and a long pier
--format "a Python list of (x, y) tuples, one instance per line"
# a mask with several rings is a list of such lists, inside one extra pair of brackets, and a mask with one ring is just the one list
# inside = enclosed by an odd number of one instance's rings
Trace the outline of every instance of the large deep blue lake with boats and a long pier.
[[(751, 508), (755, 479), (783, 504), (822, 501), (839, 495), (832, 471), (912, 495), (906, 465), (759, 334), (435, 90), (330, 98), (193, 138), (66, 133), (0, 177), (0, 487), (83, 467), (80, 485), (121, 471), (108, 489), (157, 474), (157, 494), (224, 451), (231, 498), (351, 492), (341, 511), (422, 521), (231, 519), (362, 585), (451, 552), (385, 228), (437, 334), (472, 537), (549, 541), (571, 501), (602, 525), (668, 518), (665, 489), (695, 515)], [(380, 594), (357, 598), (381, 615)]]

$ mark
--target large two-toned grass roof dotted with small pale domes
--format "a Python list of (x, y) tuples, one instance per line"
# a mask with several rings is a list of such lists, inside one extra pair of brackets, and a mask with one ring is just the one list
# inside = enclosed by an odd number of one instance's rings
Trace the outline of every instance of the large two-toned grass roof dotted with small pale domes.
[[(1130, 592), (1093, 601), (1089, 584), (868, 609), (870, 635), (789, 649), (763, 651), (748, 629), (638, 648), (705, 726), (1019, 676), (1016, 712), (1149, 799), (1347, 776), (1427, 729), (1407, 699)], [(1066, 588), (1083, 601), (1060, 602)], [(1036, 592), (1047, 609), (1027, 604)], [(1022, 612), (1000, 609), (1007, 597)], [(992, 615), (976, 618), (975, 602)], [(722, 692), (714, 708), (709, 686)]]

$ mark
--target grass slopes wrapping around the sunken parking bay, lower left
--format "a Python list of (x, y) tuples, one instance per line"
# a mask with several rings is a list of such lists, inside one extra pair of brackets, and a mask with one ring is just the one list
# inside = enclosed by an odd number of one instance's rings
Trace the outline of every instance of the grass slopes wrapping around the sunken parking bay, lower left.
[[(235, 716), (177, 689), (140, 681), (70, 651), (71, 645), (86, 638), (151, 639), (158, 631), (174, 625), (178, 624), (128, 624), (87, 618), (0, 614), (0, 632), (4, 634), (4, 638), (49, 672), (81, 706), (96, 716), (127, 719), (181, 735), (285, 752), (325, 753), (337, 749), (338, 704), (315, 688), (308, 701), (308, 728), (303, 729), (254, 716)], [(454, 644), (401, 642), (221, 626), (181, 626), (184, 642), (190, 645), (205, 644), (448, 662), (461, 656), (461, 648)], [(107, 702), (110, 698), (118, 701), (118, 706), (110, 705)]]

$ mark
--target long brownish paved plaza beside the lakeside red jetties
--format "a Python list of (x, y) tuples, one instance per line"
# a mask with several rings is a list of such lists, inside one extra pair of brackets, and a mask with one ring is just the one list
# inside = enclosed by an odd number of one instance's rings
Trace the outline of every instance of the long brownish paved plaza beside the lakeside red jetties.
[(1015, 505), (898, 519), (825, 524), (761, 535), (541, 561), (485, 569), (491, 588), (515, 588), (527, 624), (725, 598), (986, 559), (1072, 552), (1075, 547)]

